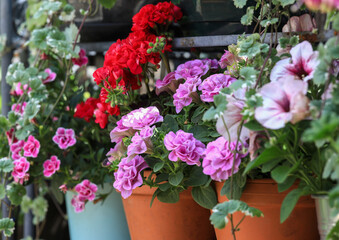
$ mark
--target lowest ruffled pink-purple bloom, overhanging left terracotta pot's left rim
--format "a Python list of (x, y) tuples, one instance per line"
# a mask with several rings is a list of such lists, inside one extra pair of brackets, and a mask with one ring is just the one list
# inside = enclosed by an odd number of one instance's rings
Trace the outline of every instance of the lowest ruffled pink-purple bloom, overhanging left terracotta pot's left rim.
[(132, 160), (123, 158), (119, 163), (118, 170), (114, 173), (115, 181), (113, 187), (121, 192), (126, 199), (132, 194), (132, 190), (143, 183), (141, 171), (147, 168), (144, 158), (137, 155)]

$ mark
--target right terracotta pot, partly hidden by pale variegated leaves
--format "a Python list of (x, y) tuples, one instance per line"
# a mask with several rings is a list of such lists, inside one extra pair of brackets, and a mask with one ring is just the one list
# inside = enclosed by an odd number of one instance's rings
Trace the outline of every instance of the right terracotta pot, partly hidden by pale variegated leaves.
[[(224, 202), (226, 196), (220, 195), (223, 182), (216, 182), (218, 201)], [(297, 187), (297, 186), (295, 186)], [(301, 197), (289, 218), (280, 223), (280, 207), (288, 192), (279, 193), (272, 179), (249, 180), (241, 196), (241, 201), (264, 213), (264, 217), (247, 216), (236, 232), (237, 240), (319, 240), (314, 200)], [(237, 224), (243, 214), (233, 215)], [(233, 239), (230, 224), (224, 229), (215, 229), (218, 240)]]

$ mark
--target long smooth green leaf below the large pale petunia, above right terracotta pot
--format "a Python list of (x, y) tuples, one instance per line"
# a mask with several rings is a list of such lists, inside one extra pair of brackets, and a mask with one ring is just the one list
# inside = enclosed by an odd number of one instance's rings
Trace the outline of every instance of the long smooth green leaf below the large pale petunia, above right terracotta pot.
[(281, 151), (277, 146), (266, 148), (256, 159), (251, 161), (245, 168), (244, 174), (248, 173), (251, 169), (258, 167), (275, 159), (284, 159), (286, 153)]

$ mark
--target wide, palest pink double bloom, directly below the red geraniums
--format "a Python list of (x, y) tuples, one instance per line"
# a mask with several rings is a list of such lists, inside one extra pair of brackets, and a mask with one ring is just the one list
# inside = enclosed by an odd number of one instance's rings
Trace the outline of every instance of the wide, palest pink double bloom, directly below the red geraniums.
[(133, 136), (138, 130), (162, 122), (163, 117), (156, 107), (139, 108), (123, 116), (111, 131), (112, 142), (120, 142), (126, 136)]

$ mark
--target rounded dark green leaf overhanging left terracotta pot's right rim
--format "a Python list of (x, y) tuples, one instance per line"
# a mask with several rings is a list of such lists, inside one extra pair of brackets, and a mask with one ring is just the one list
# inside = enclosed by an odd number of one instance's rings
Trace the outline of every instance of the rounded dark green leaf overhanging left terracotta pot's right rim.
[(192, 197), (200, 206), (207, 209), (212, 209), (218, 203), (217, 195), (210, 185), (208, 187), (194, 187)]

